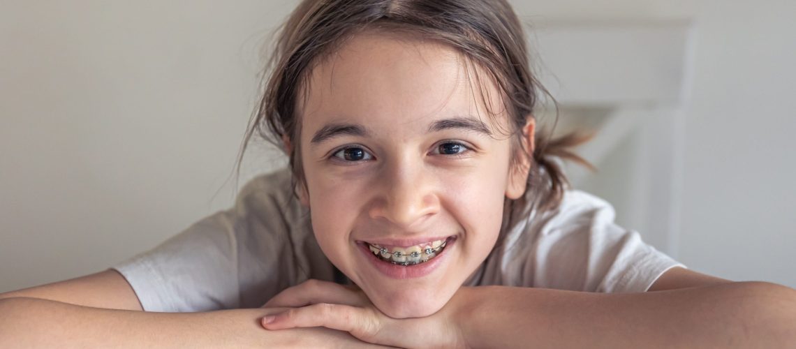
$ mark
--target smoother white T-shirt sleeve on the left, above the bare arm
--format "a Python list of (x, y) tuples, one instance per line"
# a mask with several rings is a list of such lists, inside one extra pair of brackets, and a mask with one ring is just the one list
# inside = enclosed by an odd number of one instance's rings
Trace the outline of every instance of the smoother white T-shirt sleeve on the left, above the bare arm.
[(113, 266), (146, 312), (204, 312), (239, 303), (235, 220), (219, 211)]

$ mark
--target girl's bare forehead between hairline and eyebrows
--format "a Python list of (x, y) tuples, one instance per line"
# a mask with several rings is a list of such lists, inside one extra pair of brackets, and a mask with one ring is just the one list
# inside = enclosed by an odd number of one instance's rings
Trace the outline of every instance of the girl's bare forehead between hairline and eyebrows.
[(425, 127), (453, 115), (480, 117), (494, 128), (489, 112), (504, 108), (494, 83), (485, 77), (438, 41), (365, 32), (314, 67), (298, 111), (308, 131), (339, 121), (374, 128)]

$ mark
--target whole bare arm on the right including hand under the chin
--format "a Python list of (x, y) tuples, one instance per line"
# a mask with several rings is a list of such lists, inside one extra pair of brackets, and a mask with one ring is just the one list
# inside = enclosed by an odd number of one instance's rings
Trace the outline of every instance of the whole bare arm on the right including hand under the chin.
[[(674, 268), (647, 293), (462, 287), (439, 312), (391, 319), (361, 292), (306, 282), (271, 300), (268, 329), (325, 326), (400, 347), (786, 347), (796, 290)], [(271, 303), (269, 302), (269, 303)], [(309, 306), (303, 306), (311, 304)]]

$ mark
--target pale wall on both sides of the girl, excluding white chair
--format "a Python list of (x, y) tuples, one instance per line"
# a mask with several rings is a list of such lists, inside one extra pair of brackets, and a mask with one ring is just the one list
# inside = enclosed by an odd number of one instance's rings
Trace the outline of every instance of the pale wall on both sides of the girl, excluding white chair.
[[(293, 3), (6, 0), (0, 292), (103, 270), (227, 207), (259, 48)], [(529, 21), (693, 19), (677, 258), (796, 286), (794, 2), (514, 3)]]

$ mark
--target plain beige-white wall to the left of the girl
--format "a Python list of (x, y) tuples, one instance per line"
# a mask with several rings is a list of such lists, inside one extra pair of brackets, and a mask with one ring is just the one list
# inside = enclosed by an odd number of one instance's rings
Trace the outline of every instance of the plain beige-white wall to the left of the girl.
[(103, 270), (232, 203), (259, 52), (293, 5), (224, 4), (3, 2), (0, 292)]

